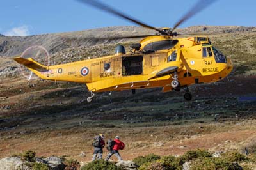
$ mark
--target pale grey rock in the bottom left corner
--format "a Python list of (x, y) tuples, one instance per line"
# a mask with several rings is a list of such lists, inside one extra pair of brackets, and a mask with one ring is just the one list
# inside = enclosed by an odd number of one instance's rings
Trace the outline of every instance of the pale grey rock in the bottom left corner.
[[(22, 162), (20, 157), (8, 157), (0, 160), (0, 170), (18, 170), (21, 169)], [(24, 170), (30, 170), (26, 165), (23, 165)]]

